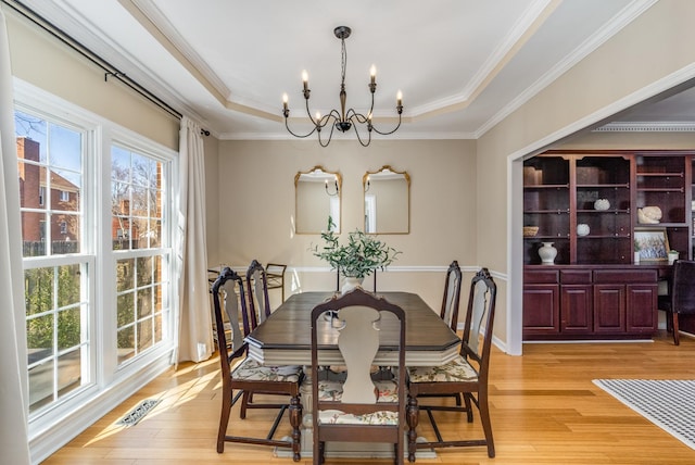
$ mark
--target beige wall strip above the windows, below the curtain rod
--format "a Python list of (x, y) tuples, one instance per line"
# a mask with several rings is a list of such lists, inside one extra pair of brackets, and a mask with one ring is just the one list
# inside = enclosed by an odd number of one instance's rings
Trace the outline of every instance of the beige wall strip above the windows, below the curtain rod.
[(179, 120), (144, 100), (10, 9), (12, 74), (34, 86), (178, 150)]

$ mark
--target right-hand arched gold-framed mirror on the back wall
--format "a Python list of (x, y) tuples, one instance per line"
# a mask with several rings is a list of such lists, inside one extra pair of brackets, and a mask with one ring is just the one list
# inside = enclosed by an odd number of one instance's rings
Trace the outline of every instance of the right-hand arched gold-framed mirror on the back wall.
[(384, 165), (362, 177), (365, 232), (410, 232), (410, 176)]

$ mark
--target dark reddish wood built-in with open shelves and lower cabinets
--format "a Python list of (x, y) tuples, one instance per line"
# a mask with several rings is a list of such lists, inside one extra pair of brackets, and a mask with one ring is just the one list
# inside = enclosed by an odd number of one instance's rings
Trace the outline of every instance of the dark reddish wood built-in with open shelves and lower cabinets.
[[(670, 249), (693, 256), (694, 163), (671, 151), (549, 151), (525, 162), (525, 339), (656, 331), (658, 281), (670, 267), (635, 264), (634, 231), (665, 228)], [(654, 205), (659, 223), (641, 224), (639, 209)], [(543, 242), (557, 249), (552, 265), (541, 264)]]

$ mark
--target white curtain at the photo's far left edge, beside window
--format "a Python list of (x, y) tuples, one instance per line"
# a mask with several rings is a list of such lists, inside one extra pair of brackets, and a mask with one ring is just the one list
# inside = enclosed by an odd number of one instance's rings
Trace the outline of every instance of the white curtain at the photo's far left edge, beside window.
[(0, 9), (0, 462), (29, 464), (26, 322), (12, 73)]

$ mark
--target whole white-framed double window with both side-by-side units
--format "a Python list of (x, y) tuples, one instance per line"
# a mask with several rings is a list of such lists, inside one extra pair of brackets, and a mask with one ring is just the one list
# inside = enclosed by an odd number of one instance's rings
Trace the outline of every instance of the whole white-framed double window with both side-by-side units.
[(15, 100), (36, 439), (170, 360), (176, 153), (28, 85)]

